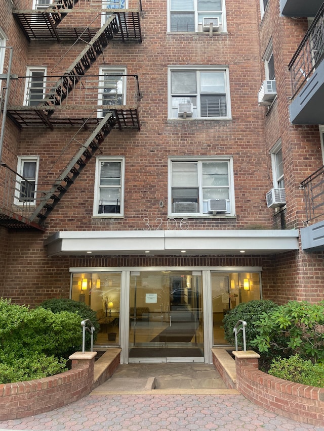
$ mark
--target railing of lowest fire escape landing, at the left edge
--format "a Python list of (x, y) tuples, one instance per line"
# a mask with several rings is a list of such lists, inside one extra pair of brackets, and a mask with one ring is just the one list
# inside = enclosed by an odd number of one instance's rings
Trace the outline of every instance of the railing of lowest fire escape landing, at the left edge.
[(5, 163), (0, 164), (0, 178), (2, 184), (0, 225), (12, 228), (41, 229), (41, 226), (29, 220), (35, 207), (36, 184), (28, 181)]

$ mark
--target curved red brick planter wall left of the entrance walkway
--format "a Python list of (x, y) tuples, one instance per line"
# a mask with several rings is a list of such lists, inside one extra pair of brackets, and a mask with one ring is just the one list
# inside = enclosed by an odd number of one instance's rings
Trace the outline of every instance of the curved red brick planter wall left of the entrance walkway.
[(19, 419), (63, 407), (92, 390), (96, 352), (70, 356), (72, 369), (51, 377), (0, 385), (0, 420)]

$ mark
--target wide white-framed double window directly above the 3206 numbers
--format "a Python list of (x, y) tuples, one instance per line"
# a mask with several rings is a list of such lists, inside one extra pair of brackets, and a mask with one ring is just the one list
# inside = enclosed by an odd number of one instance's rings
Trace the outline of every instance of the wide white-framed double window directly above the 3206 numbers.
[(211, 200), (224, 201), (230, 213), (229, 160), (171, 161), (172, 214), (208, 214)]

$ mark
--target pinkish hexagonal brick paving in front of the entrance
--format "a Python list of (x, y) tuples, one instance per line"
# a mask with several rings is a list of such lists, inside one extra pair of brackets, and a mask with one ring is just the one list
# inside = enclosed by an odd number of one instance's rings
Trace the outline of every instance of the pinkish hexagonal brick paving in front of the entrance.
[(2, 429), (38, 431), (316, 430), (268, 412), (241, 395), (89, 395), (48, 413), (0, 422)]

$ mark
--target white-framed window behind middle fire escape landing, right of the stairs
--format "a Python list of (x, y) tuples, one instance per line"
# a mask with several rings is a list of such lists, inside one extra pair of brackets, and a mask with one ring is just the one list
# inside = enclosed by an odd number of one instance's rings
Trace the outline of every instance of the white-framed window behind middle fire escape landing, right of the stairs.
[[(98, 105), (126, 105), (126, 67), (101, 67), (99, 74)], [(104, 117), (107, 112), (98, 111), (98, 117)]]

